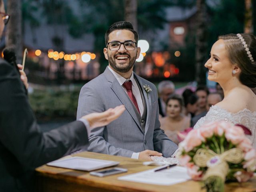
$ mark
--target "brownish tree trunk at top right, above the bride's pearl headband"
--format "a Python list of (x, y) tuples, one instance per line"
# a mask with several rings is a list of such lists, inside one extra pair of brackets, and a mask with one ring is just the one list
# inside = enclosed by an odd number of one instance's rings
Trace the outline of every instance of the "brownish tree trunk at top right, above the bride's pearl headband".
[(253, 33), (252, 27), (252, 0), (245, 0), (244, 32)]

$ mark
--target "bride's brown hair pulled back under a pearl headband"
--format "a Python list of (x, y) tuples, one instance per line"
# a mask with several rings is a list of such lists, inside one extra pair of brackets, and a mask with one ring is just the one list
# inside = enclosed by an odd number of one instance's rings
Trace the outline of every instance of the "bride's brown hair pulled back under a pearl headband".
[(239, 80), (242, 84), (254, 88), (256, 87), (256, 37), (253, 34), (242, 33), (249, 51), (252, 54), (252, 62), (236, 34), (227, 34), (218, 37), (224, 40), (228, 57), (232, 64), (237, 64), (241, 69)]

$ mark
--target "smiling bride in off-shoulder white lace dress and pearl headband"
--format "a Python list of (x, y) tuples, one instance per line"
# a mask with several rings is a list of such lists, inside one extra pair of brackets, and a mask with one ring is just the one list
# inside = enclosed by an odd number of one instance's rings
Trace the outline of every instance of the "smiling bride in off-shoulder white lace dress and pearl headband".
[(209, 69), (208, 80), (218, 82), (224, 99), (212, 106), (194, 129), (202, 124), (225, 120), (250, 129), (247, 135), (256, 148), (256, 37), (252, 34), (219, 36), (204, 65)]

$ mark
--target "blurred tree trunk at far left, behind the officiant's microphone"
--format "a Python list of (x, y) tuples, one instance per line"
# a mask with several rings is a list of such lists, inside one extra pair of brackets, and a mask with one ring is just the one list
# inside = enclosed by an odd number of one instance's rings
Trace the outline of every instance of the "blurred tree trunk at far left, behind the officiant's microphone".
[(7, 25), (6, 46), (13, 46), (17, 63), (22, 63), (22, 10), (21, 0), (8, 0), (7, 13), (10, 20)]

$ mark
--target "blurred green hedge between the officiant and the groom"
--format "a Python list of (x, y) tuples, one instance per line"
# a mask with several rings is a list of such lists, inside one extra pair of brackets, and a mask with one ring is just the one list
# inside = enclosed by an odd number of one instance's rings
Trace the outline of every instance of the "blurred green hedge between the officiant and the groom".
[(36, 117), (44, 120), (76, 117), (79, 90), (40, 91), (29, 95), (30, 104)]

